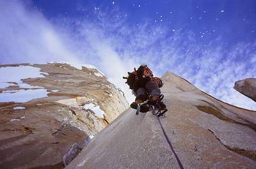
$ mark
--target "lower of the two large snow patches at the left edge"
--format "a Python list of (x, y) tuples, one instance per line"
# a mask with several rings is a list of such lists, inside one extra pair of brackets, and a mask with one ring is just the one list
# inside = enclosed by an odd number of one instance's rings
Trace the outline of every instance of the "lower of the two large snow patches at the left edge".
[(31, 101), (32, 99), (37, 98), (45, 98), (47, 97), (46, 89), (29, 89), (29, 90), (19, 90), (17, 92), (11, 93), (11, 92), (3, 92), (0, 94), (0, 102), (9, 102), (9, 101), (15, 101), (19, 103), (25, 103), (27, 101)]

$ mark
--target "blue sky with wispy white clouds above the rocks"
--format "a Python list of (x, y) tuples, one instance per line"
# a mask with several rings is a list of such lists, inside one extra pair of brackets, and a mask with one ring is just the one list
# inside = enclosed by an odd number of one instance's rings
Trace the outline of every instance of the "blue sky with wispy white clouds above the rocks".
[(120, 77), (140, 63), (173, 71), (216, 98), (255, 108), (234, 91), (256, 75), (256, 2), (1, 1), (1, 64), (81, 62)]

